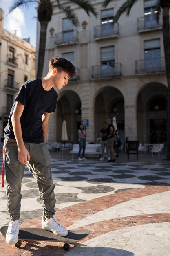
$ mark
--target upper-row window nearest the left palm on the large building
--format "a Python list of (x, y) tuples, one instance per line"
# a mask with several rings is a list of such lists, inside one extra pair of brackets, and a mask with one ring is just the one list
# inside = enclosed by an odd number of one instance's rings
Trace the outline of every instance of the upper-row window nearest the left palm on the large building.
[(68, 42), (73, 40), (73, 22), (68, 18), (64, 18), (62, 20), (62, 28), (63, 41)]

